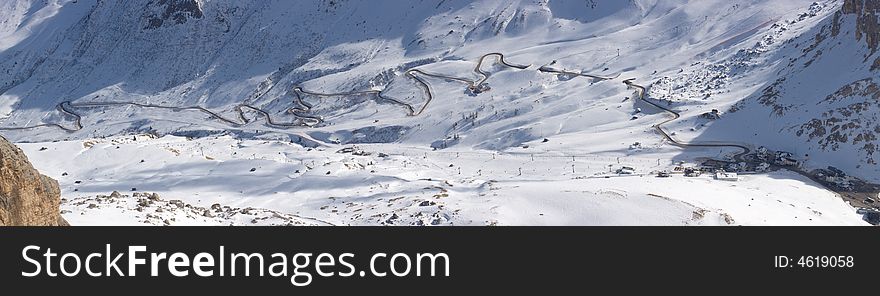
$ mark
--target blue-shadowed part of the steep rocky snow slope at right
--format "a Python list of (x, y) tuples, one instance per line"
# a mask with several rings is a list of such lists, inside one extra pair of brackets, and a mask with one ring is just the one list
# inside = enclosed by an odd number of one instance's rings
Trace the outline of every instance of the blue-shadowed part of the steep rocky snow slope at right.
[(755, 71), (762, 77), (759, 88), (707, 135), (751, 139), (803, 155), (816, 167), (880, 179), (880, 2), (847, 0), (833, 7), (794, 38), (767, 39), (782, 42), (758, 53), (767, 67)]

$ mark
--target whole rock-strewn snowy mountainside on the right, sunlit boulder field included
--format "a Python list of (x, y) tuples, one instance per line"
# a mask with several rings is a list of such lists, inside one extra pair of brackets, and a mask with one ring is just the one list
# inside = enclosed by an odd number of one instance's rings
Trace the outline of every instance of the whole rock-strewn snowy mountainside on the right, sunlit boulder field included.
[[(877, 3), (815, 3), (745, 38), (745, 48), (669, 73), (652, 95), (691, 110), (677, 127), (695, 141), (748, 139), (793, 152), (807, 167), (832, 165), (876, 182)], [(729, 113), (697, 118), (710, 109)]]

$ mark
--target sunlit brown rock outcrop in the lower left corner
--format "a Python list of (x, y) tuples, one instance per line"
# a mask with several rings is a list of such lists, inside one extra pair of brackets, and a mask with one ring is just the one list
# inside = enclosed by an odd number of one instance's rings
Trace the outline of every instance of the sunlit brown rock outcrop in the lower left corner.
[(31, 165), (27, 156), (0, 137), (0, 226), (66, 226), (58, 182)]

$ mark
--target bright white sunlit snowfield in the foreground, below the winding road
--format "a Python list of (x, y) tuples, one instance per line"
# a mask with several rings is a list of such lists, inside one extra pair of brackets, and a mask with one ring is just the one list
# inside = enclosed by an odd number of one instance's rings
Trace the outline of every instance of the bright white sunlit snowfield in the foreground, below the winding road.
[[(199, 208), (175, 212), (171, 225), (264, 225), (254, 220), (258, 214), (200, 215), (214, 204), (271, 209), (297, 225), (865, 225), (834, 193), (794, 173), (747, 175), (739, 182), (656, 178), (647, 174), (658, 168), (656, 160), (636, 157), (623, 165), (637, 174), (617, 176), (608, 173), (615, 158), (594, 155), (533, 158), (388, 144), (359, 146), (355, 151), (365, 153), (353, 155), (338, 153), (340, 147), (228, 136), (21, 147), (38, 170), (59, 181), (64, 217), (73, 225), (161, 225), (170, 218), (167, 210), (137, 211), (136, 197), (95, 201), (113, 191), (155, 192)], [(150, 220), (148, 214), (165, 216)]]

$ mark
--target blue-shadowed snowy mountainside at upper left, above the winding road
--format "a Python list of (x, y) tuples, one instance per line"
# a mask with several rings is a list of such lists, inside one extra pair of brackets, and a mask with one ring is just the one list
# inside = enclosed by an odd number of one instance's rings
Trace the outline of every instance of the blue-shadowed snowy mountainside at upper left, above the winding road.
[[(377, 73), (448, 58), (465, 43), (521, 36), (553, 23), (546, 3), (526, 1), (9, 0), (4, 5), (4, 115), (95, 98), (210, 108), (289, 101), (284, 96), (292, 85), (317, 77), (357, 72), (359, 79), (334, 88), (365, 88)], [(605, 6), (603, 14), (635, 7)]]

